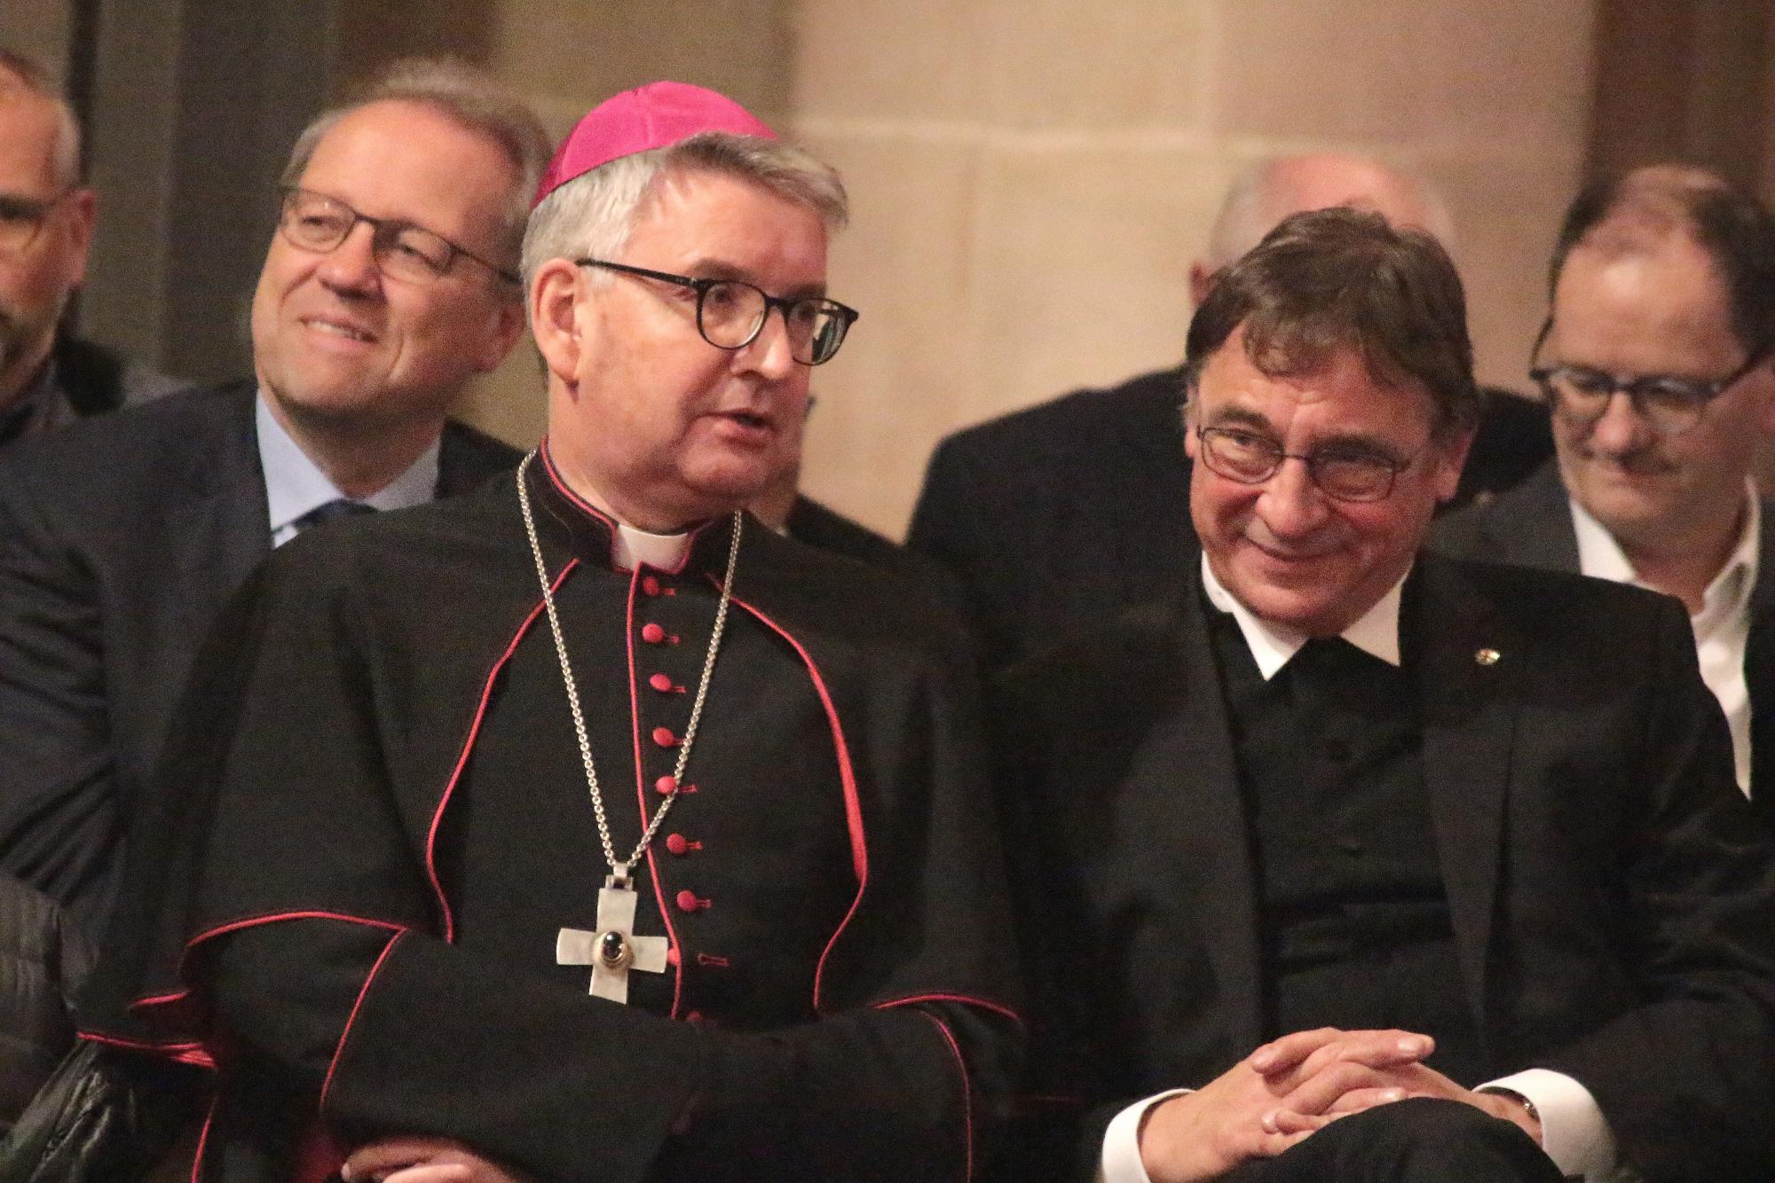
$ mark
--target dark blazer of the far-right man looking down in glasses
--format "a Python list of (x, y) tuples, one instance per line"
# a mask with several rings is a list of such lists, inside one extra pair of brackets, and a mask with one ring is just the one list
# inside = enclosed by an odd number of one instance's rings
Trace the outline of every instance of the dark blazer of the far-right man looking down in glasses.
[[(1558, 465), (1550, 459), (1498, 500), (1441, 518), (1431, 530), (1431, 548), (1457, 559), (1576, 573), (1578, 534)], [(1766, 819), (1775, 819), (1775, 502), (1770, 498), (1763, 498), (1745, 685), (1750, 690), (1752, 798)], [(1757, 786), (1771, 787), (1759, 793)]]

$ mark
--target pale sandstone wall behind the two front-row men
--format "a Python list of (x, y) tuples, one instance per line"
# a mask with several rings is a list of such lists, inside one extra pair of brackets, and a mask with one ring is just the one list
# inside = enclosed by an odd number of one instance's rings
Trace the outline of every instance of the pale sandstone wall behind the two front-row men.
[[(1409, 12), (1409, 20), (1400, 20)], [(795, 5), (793, 129), (856, 202), (804, 484), (896, 534), (944, 433), (1179, 360), (1227, 181), (1347, 149), (1448, 195), (1486, 381), (1525, 387), (1578, 177), (1583, 0)]]

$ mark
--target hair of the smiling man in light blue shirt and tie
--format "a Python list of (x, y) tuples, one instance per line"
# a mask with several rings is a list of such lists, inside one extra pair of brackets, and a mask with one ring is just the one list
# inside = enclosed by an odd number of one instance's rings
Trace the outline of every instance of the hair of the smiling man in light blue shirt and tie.
[(499, 215), (499, 236), (502, 245), (517, 252), (531, 211), (531, 195), (548, 163), (548, 135), (529, 106), (506, 92), (492, 76), (465, 62), (403, 59), (390, 64), (359, 96), (321, 112), (302, 129), (289, 149), (282, 183), (295, 184), (309, 167), (321, 137), (341, 119), (371, 103), (430, 106), (501, 147), (511, 161), (513, 181)]

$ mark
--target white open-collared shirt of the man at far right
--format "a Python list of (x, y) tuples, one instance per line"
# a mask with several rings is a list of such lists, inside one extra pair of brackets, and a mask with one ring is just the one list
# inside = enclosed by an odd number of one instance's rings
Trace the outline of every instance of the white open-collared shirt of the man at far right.
[[(1578, 571), (1599, 580), (1651, 587), (1633, 569), (1621, 543), (1601, 521), (1571, 502), (1571, 525), (1578, 534)], [(1708, 584), (1700, 596), (1700, 612), (1688, 617), (1695, 630), (1695, 658), (1700, 662), (1700, 679), (1720, 701), (1725, 722), (1732, 729), (1732, 763), (1738, 770), (1738, 787), (1750, 793), (1750, 686), (1745, 685), (1745, 646), (1750, 640), (1750, 592), (1757, 585), (1757, 548), (1763, 541), (1763, 505), (1755, 486), (1747, 486), (1745, 529), (1738, 546), (1727, 555), (1725, 566)], [(1656, 589), (1653, 589), (1656, 591)]]

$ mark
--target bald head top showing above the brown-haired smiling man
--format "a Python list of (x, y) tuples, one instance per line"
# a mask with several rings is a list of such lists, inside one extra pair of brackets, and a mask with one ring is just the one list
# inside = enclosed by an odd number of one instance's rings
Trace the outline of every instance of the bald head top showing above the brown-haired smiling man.
[(1351, 206), (1377, 213), (1397, 227), (1427, 231), (1445, 247), (1454, 238), (1448, 208), (1424, 181), (1367, 156), (1314, 153), (1276, 156), (1246, 168), (1227, 190), (1209, 252), (1189, 273), (1196, 303), (1207, 296), (1214, 273), (1248, 250), (1294, 213)]

